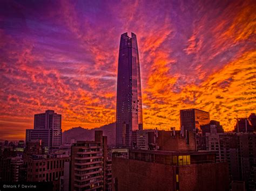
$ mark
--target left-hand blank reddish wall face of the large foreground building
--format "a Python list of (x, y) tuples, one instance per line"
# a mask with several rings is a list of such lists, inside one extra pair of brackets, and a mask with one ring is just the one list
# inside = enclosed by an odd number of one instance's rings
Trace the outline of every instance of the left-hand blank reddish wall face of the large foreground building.
[[(173, 190), (172, 166), (124, 158), (112, 158), (112, 189)], [(116, 179), (117, 178), (117, 179)]]

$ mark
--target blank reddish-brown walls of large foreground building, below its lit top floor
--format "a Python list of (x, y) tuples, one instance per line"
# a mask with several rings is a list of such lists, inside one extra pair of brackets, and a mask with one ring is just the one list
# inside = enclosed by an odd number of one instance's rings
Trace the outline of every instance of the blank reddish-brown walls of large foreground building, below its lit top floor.
[(113, 190), (228, 190), (227, 163), (171, 166), (114, 157), (112, 164)]

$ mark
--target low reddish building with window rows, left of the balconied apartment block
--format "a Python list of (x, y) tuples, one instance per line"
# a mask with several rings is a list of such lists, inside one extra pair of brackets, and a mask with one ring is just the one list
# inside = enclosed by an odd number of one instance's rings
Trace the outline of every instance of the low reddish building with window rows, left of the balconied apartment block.
[(23, 155), (27, 166), (28, 182), (52, 182), (52, 190), (60, 189), (60, 177), (64, 175), (64, 164), (70, 161), (66, 154)]

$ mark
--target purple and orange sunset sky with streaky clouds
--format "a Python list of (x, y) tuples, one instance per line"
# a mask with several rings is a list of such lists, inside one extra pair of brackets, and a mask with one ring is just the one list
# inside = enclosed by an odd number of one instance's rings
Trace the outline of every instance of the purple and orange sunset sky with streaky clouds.
[[(226, 131), (256, 112), (255, 1), (1, 1), (0, 139), (33, 115), (62, 129), (115, 121), (120, 35), (137, 35), (144, 129), (179, 129), (179, 110)], [(159, 123), (161, 125), (159, 125)]]

